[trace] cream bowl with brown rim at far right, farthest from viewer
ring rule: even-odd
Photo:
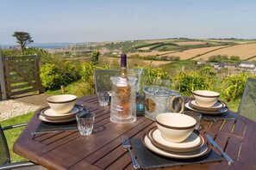
[[[196,90],[193,92],[193,95],[197,104],[203,107],[214,106],[220,97],[219,93],[208,90]]]

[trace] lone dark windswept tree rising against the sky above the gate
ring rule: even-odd
[[[16,43],[18,43],[21,46],[22,52],[24,51],[26,46],[28,46],[28,44],[34,42],[34,40],[32,40],[32,37],[30,36],[30,33],[16,31],[13,33],[12,36],[16,37]]]

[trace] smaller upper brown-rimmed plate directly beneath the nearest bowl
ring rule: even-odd
[[[148,134],[148,133],[147,133]],[[149,132],[147,137],[151,140],[153,144],[157,144],[158,147],[162,149],[167,149],[173,152],[187,152],[190,150],[198,149],[199,146],[204,142],[204,139],[201,135],[198,136],[194,131],[191,133],[190,137],[188,137],[182,143],[172,143],[167,141],[165,137],[161,135],[161,132],[157,127],[155,127],[152,131]]]

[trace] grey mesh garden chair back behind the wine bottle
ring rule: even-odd
[[[136,76],[136,92],[140,91],[141,76],[143,74],[143,69],[128,70],[128,76]],[[119,76],[120,70],[94,70],[94,80],[95,80],[95,90],[96,93],[100,91],[110,91],[112,87],[112,82],[110,80],[111,76]]]

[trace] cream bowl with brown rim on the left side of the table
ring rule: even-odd
[[[55,113],[65,114],[70,112],[75,106],[77,100],[76,95],[60,94],[47,98],[47,103]]]

